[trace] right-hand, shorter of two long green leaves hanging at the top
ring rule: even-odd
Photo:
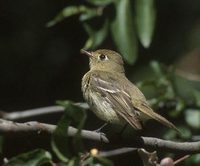
[[[154,0],[136,0],[136,25],[140,42],[148,48],[155,28],[156,11]]]

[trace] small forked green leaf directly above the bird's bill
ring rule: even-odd
[[[99,45],[101,45],[108,34],[108,26],[108,20],[105,20],[103,26],[99,30],[95,30],[88,23],[84,23],[84,28],[89,35],[84,49],[96,49]]]

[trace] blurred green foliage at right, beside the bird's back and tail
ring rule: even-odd
[[[153,79],[142,81],[138,85],[141,89],[145,86],[153,89],[154,95],[149,99],[149,103],[155,110],[165,111],[171,118],[178,120],[176,127],[181,135],[173,130],[167,130],[163,135],[167,140],[188,140],[192,137],[192,132],[200,129],[200,109],[199,91],[194,90],[194,98],[187,100],[177,92],[176,75],[174,70],[163,66],[157,61],[152,61],[150,66],[153,70]],[[144,91],[145,92],[145,91]],[[192,92],[192,91],[191,91]],[[191,103],[193,103],[191,105]],[[193,108],[193,106],[197,108]],[[183,118],[184,117],[184,118]],[[185,124],[185,125],[183,125]]]

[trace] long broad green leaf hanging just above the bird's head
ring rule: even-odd
[[[130,0],[115,1],[116,16],[111,24],[113,40],[124,59],[133,64],[137,59],[137,39]]]

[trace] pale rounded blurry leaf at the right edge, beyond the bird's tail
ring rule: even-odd
[[[200,110],[185,110],[185,120],[190,127],[200,129]]]

